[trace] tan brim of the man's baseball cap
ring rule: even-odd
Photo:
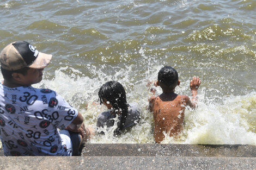
[[[36,69],[45,68],[48,64],[50,64],[51,59],[52,59],[51,54],[45,54],[45,53],[39,52],[33,64],[27,67],[36,68]]]

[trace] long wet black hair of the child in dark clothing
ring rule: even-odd
[[[119,135],[124,127],[129,106],[126,101],[124,87],[118,81],[108,81],[100,87],[98,95],[100,104],[103,103],[105,98],[113,106],[115,112],[121,112],[121,121],[118,122],[117,129],[114,130],[114,136]]]

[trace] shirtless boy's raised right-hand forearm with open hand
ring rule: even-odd
[[[198,87],[200,86],[200,83],[201,83],[201,80],[199,79],[199,77],[196,77],[196,76],[194,76],[192,78],[192,80],[190,81],[190,89],[192,92],[192,101],[189,100],[187,104],[191,108],[196,108],[196,106],[197,106],[197,90],[198,90]]]

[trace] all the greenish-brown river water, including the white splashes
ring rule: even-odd
[[[154,143],[146,84],[169,65],[179,73],[177,93],[191,97],[194,75],[202,83],[184,132],[162,143],[256,144],[255,0],[1,0],[0,15],[0,49],[26,40],[53,54],[34,87],[56,90],[86,125],[95,128],[106,110],[92,104],[106,81],[119,81],[138,103],[138,125],[91,143]]]

